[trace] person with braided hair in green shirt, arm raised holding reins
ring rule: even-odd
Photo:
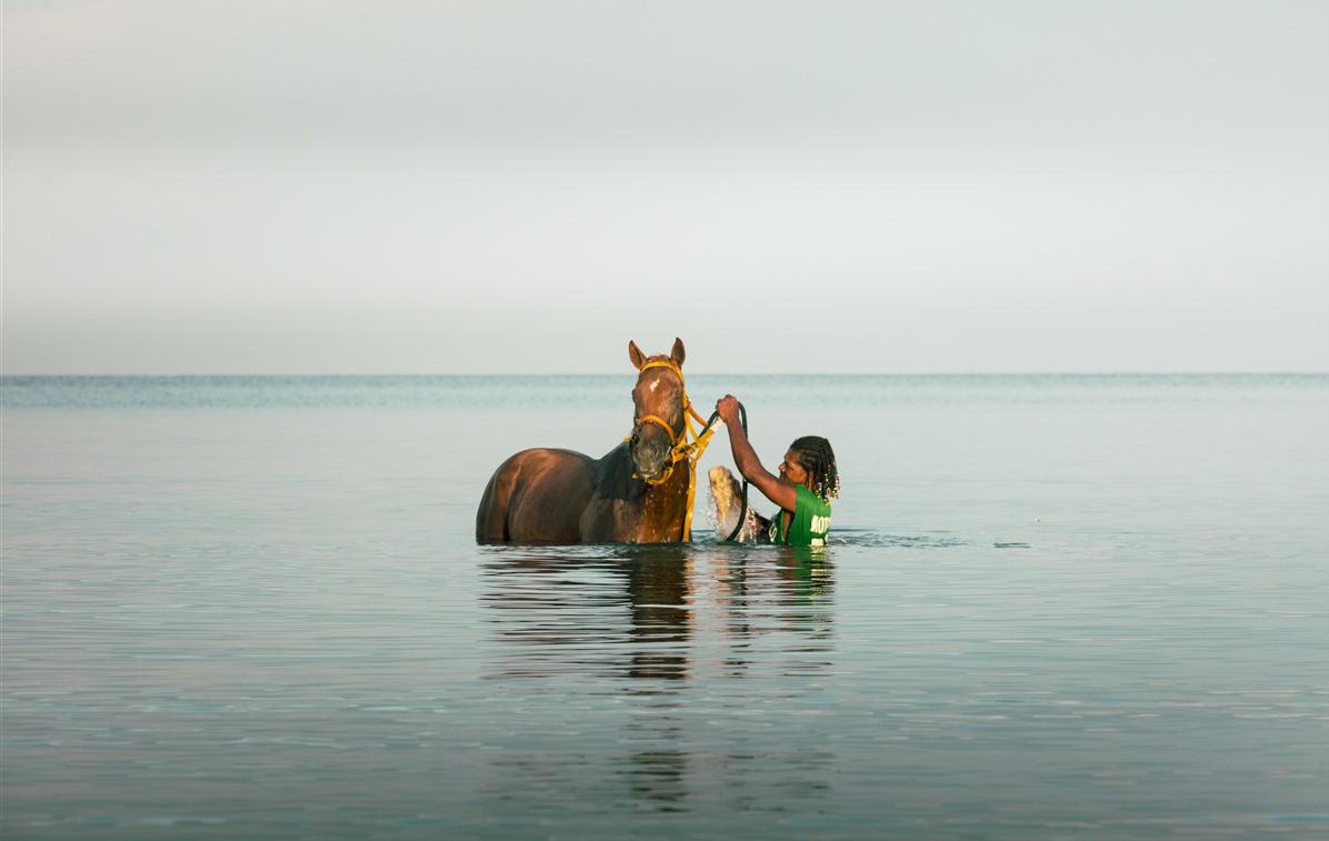
[[[762,466],[739,420],[739,401],[724,395],[715,411],[730,430],[734,464],[748,482],[780,506],[771,518],[769,538],[781,546],[825,546],[831,530],[831,500],[840,496],[840,473],[831,442],[817,436],[797,438],[784,453],[780,476]]]

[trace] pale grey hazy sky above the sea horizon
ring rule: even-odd
[[[1329,4],[7,0],[4,373],[1329,371]]]

